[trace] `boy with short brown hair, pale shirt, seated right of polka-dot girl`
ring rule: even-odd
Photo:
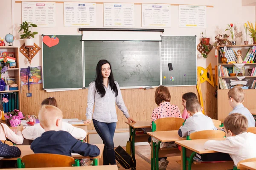
[[[217,129],[214,126],[212,119],[202,113],[203,108],[197,99],[189,99],[186,101],[186,109],[191,117],[186,119],[185,124],[178,130],[178,135],[180,137],[185,137],[193,132],[201,130]]]

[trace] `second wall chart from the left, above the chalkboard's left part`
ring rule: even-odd
[[[96,3],[64,3],[65,27],[96,27]]]

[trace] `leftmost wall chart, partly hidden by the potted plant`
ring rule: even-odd
[[[30,22],[38,27],[55,27],[55,3],[22,2],[22,22]]]

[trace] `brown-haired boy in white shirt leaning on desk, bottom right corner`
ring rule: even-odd
[[[256,135],[246,132],[248,121],[240,113],[233,113],[224,120],[224,130],[227,139],[224,141],[209,140],[204,147],[208,150],[229,153],[234,164],[239,161],[256,157]]]

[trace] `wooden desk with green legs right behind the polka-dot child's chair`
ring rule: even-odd
[[[159,142],[157,143],[157,147],[156,148],[152,147],[153,164],[151,162],[151,170],[158,169],[158,158],[159,158],[158,152],[160,149],[161,142],[175,142],[179,140],[186,140],[185,137],[182,138],[178,135],[178,130],[147,132],[147,134],[159,140]],[[172,156],[171,154],[180,152],[177,148],[161,148],[161,150],[163,150],[163,156],[160,156],[160,157],[169,157],[169,156]]]

